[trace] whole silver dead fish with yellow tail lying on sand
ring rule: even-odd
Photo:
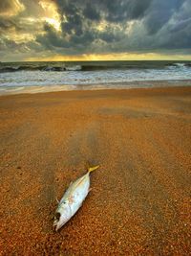
[[[83,200],[88,196],[90,191],[90,173],[95,171],[98,167],[99,166],[88,168],[87,174],[77,178],[71,183],[64,196],[58,202],[53,221],[55,231],[69,221],[81,207]]]

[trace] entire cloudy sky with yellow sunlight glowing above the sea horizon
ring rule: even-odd
[[[191,0],[0,0],[0,61],[191,60]]]

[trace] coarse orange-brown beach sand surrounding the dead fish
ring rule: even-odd
[[[189,255],[191,87],[0,97],[0,255]],[[100,164],[58,233],[56,198]]]

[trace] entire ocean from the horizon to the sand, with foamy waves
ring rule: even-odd
[[[154,81],[154,82],[152,82]],[[0,95],[191,84],[191,61],[0,62]],[[184,84],[184,83],[182,83]]]

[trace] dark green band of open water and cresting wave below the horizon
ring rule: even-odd
[[[100,71],[100,70],[134,70],[134,69],[166,69],[189,68],[191,62],[172,61],[87,61],[87,62],[0,62],[0,73],[18,71]]]

